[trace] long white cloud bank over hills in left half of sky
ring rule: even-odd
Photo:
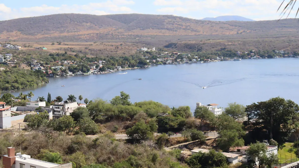
[[[20,17],[42,16],[58,13],[82,13],[94,15],[106,15],[110,13],[129,13],[132,9],[125,5],[132,5],[132,0],[107,0],[99,3],[84,5],[60,5],[58,7],[42,4],[40,6],[21,7],[11,10],[4,4],[0,4],[0,20],[15,19]],[[13,11],[13,12],[12,12]]]

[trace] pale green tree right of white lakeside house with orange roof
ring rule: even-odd
[[[225,108],[225,113],[233,117],[235,120],[246,116],[245,106],[237,104],[236,102],[228,103],[228,107]]]

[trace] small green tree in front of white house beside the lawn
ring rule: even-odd
[[[251,143],[248,150],[247,155],[250,156],[252,159],[257,159],[259,162],[259,168],[263,166],[266,162],[266,152],[267,146],[265,143]]]

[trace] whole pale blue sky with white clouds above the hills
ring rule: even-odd
[[[238,15],[254,20],[280,19],[283,0],[13,0],[0,1],[0,20],[58,13],[94,15],[143,13],[192,19]],[[286,0],[288,1],[288,0]],[[299,5],[299,3],[297,4]],[[296,6],[298,8],[298,6]],[[296,9],[297,10],[297,9]],[[295,17],[292,11],[289,18]]]

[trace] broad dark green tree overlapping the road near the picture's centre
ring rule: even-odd
[[[152,136],[153,132],[157,130],[157,124],[152,123],[152,126],[149,126],[144,121],[139,121],[135,126],[126,130],[126,134],[129,138],[144,140]]]

